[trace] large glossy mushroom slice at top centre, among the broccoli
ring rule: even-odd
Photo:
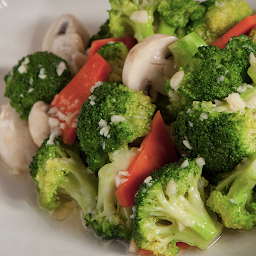
[[[123,83],[135,91],[146,91],[150,86],[152,101],[163,89],[168,78],[177,72],[168,46],[177,37],[154,34],[136,44],[129,52],[123,68]]]

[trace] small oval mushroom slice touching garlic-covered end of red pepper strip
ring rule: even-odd
[[[49,137],[51,130],[49,125],[50,116],[47,112],[50,105],[43,102],[36,102],[28,116],[28,127],[34,143],[40,147],[44,140]]]

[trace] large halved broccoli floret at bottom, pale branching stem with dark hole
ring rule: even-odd
[[[154,171],[135,198],[133,237],[154,255],[173,256],[177,242],[204,250],[223,225],[210,216],[199,192],[202,158],[183,158]]]

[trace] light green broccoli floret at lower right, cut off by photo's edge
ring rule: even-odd
[[[256,224],[256,153],[239,163],[211,192],[207,205],[227,228],[251,229]]]

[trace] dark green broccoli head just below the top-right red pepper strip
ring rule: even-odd
[[[222,99],[243,82],[239,66],[217,46],[200,47],[193,57],[193,67],[185,66],[181,70],[185,76],[178,90],[191,100]]]

